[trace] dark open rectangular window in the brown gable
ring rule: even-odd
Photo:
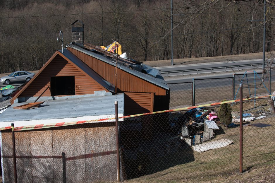
[[[51,77],[51,96],[75,95],[75,76]]]

